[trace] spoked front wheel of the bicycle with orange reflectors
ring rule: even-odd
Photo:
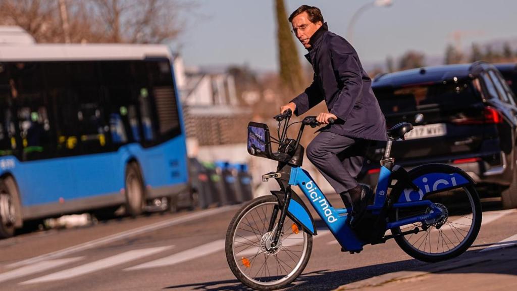
[[[273,213],[278,211],[276,217]],[[251,200],[233,217],[226,232],[226,260],[235,277],[248,287],[274,290],[293,282],[305,269],[312,250],[312,235],[288,216],[276,247],[271,247],[270,221],[278,224],[275,196]]]

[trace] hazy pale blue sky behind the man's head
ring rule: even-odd
[[[329,30],[346,37],[353,14],[370,0],[284,0],[287,13],[302,4],[322,10]],[[352,45],[364,64],[380,62],[417,50],[439,56],[453,31],[465,32],[462,47],[472,42],[517,39],[517,1],[393,0],[391,7],[374,7],[354,26]],[[197,0],[187,18],[187,30],[175,47],[187,66],[248,64],[276,70],[276,22],[273,0]],[[300,53],[306,53],[300,43]],[[513,47],[517,51],[517,46]]]

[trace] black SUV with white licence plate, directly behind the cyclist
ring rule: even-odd
[[[372,89],[388,128],[414,129],[394,142],[396,163],[411,169],[445,163],[466,171],[485,201],[517,207],[517,107],[515,96],[491,64],[425,67],[374,78]],[[384,144],[368,151],[363,182],[375,184]]]

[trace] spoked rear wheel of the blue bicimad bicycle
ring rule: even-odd
[[[400,248],[408,255],[428,262],[442,261],[464,253],[476,239],[481,227],[481,202],[474,186],[465,185],[432,193],[425,195],[422,200],[430,200],[445,215],[434,221],[392,228],[394,235],[415,228],[419,230],[417,233],[396,237]],[[430,211],[428,207],[393,209],[390,220],[400,221]]]

